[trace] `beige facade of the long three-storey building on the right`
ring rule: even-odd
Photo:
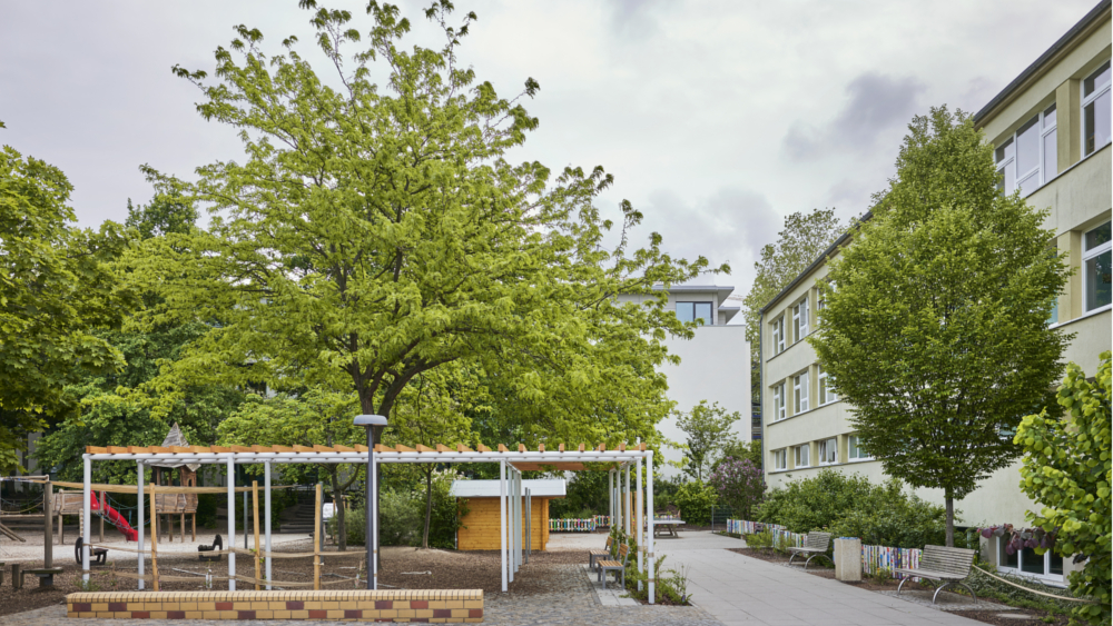
[[[995,147],[1006,190],[1020,188],[1030,205],[1051,210],[1045,227],[1057,235],[1050,245],[1066,254],[1075,272],[1051,324],[1076,334],[1063,360],[1087,372],[1096,369],[1099,355],[1111,349],[1113,324],[1110,28],[1110,3],[1103,2],[975,116]],[[817,260],[764,311],[761,403],[770,488],[824,467],[885,479],[880,463],[858,458],[850,407],[825,389],[815,350],[804,341],[818,324],[816,284],[826,274],[827,266]],[[1025,525],[1025,513],[1037,506],[1020,490],[1018,467],[997,471],[956,503],[961,524]],[[917,495],[943,503],[942,490],[918,489]],[[985,552],[997,560],[996,544]],[[1040,556],[1036,563],[1036,555],[1027,553],[1021,560],[1006,560],[1002,553],[999,566],[1053,584],[1071,569],[1070,559],[1053,563],[1051,556]]]

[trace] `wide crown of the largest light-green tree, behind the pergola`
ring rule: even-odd
[[[177,69],[200,88],[206,119],[242,130],[246,155],[198,168],[188,185],[148,169],[213,216],[207,230],[150,239],[134,258],[162,298],[148,324],[211,322],[148,393],[169,403],[186,382],[322,386],[390,416],[415,377],[466,361],[540,415],[533,436],[651,436],[668,410],[654,371],[664,334],[691,329],[663,296],[615,296],[654,294],[708,262],[669,257],[656,233],[631,249],[641,215],[623,202],[621,223],[600,217],[594,200],[611,185],[601,168],[554,177],[508,162],[538,126],[519,101],[538,85],[508,100],[461,67],[474,14],[451,26],[451,4],[434,4],[426,16],[445,43],[407,50],[411,24],[395,7],[372,2],[362,33],[347,11],[302,4],[331,76],[295,38],[267,54],[246,27],[217,50],[214,82]]]

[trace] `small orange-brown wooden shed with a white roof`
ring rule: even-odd
[[[564,479],[522,480],[522,490],[530,490],[532,509],[531,549],[543,550],[549,544],[549,500],[567,494]],[[499,540],[499,481],[455,480],[450,495],[467,505],[463,527],[456,530],[456,548],[461,550],[498,550]],[[525,537],[525,511],[522,511],[522,538]],[[523,541],[524,544],[524,541]]]

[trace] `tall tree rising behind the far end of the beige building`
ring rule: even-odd
[[[742,298],[746,339],[750,342],[750,389],[761,397],[760,318],[761,307],[769,304],[846,232],[846,226],[835,217],[835,209],[815,209],[810,213],[795,212],[785,218],[785,228],[777,241],[761,248],[761,260],[754,264],[757,276]]]

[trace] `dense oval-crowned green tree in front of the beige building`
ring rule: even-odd
[[[1024,415],[1046,406],[1067,337],[1047,327],[1067,271],[1046,210],[998,190],[969,116],[916,117],[874,218],[830,261],[809,338],[886,474],[954,500],[1007,467]]]

